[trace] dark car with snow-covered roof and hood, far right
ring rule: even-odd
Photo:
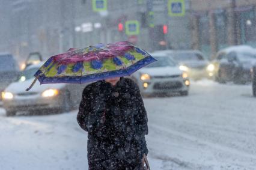
[[[232,46],[217,53],[213,61],[218,82],[244,84],[251,81],[250,69],[256,62],[256,50],[249,46]]]

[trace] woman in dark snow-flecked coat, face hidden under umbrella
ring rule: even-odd
[[[88,132],[89,169],[142,169],[147,121],[133,80],[115,77],[85,87],[78,124]]]

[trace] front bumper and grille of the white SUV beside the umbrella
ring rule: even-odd
[[[176,78],[153,78],[151,80],[139,81],[138,85],[142,95],[149,94],[173,94],[181,91],[188,91],[189,85],[185,85],[182,77]],[[144,86],[147,83],[147,87]]]

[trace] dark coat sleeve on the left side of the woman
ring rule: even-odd
[[[97,84],[85,87],[77,117],[79,126],[89,133],[97,132],[104,123],[104,109],[105,100],[99,96]]]

